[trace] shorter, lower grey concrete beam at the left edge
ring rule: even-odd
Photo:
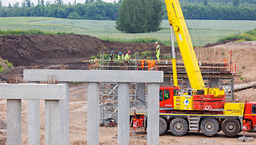
[[[47,99],[59,100],[66,97],[66,87],[62,84],[0,84],[0,99]]]

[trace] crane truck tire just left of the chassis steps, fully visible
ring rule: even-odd
[[[187,121],[183,118],[175,118],[170,123],[171,133],[175,136],[183,136],[187,133]]]

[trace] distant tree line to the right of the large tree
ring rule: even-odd
[[[256,5],[241,5],[236,7],[233,3],[186,3],[182,5],[182,12],[187,19],[210,20],[256,20]],[[167,19],[167,14],[163,16]]]

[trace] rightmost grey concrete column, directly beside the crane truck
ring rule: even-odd
[[[147,83],[147,144],[159,144],[159,83]]]

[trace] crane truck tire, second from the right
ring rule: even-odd
[[[203,119],[200,124],[201,131],[207,137],[214,136],[219,129],[218,121],[214,118]]]

